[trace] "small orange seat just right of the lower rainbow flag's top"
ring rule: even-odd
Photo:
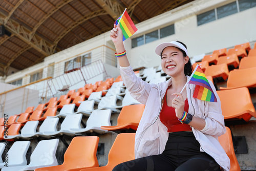
[[[221,77],[226,80],[228,78],[229,71],[226,63],[223,63],[221,65],[211,65],[207,67],[204,74],[206,76],[212,76],[212,78]]]

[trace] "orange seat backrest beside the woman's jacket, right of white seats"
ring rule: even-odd
[[[117,118],[117,125],[123,125],[127,123],[139,123],[144,112],[144,108],[144,104],[123,106]]]

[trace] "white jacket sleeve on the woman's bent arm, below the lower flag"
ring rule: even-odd
[[[211,136],[221,136],[225,134],[226,128],[224,123],[224,116],[222,115],[221,111],[221,101],[216,92],[214,84],[209,81],[212,90],[217,98],[217,102],[208,102],[205,101],[205,111],[204,111],[204,120],[205,126],[202,133],[208,134]]]

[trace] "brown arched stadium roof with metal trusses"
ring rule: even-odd
[[[1,0],[0,75],[111,30],[124,8],[137,24],[191,1]]]

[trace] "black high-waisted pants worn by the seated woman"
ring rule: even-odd
[[[220,166],[204,152],[192,132],[169,133],[160,155],[143,157],[115,166],[113,171],[219,171]]]

